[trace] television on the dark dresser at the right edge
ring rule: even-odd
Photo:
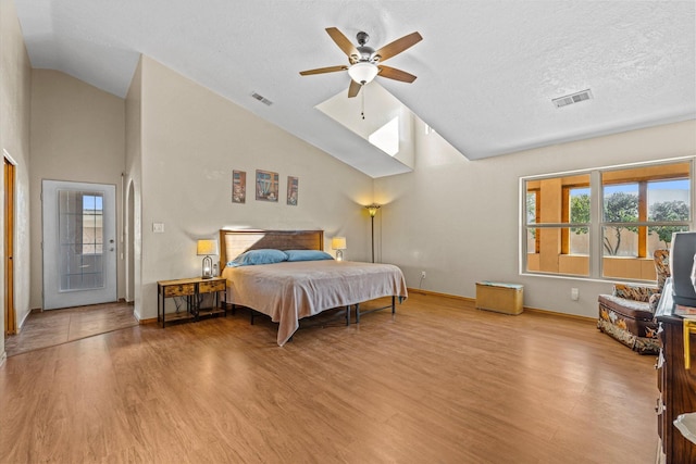
[[[696,290],[692,281],[696,233],[672,234],[670,272],[672,273],[672,297],[675,304],[696,306]]]

